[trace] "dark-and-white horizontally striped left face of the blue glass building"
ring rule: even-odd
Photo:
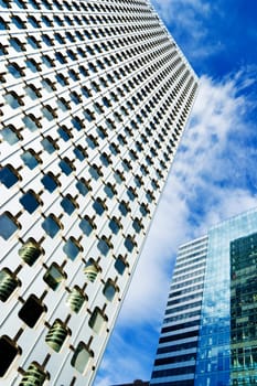
[[[151,385],[194,384],[206,256],[207,237],[179,248]]]

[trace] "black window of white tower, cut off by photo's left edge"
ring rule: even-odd
[[[19,354],[21,354],[21,347],[8,335],[2,335],[0,337],[0,377],[6,375]]]

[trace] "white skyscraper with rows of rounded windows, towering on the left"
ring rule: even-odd
[[[0,1],[1,385],[89,385],[197,81],[149,1]]]

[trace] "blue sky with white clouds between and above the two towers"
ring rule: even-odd
[[[257,206],[257,1],[151,2],[200,90],[94,386],[150,379],[178,246]]]

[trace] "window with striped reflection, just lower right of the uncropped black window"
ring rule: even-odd
[[[56,319],[45,336],[45,342],[51,349],[58,353],[67,336],[67,326],[60,319]]]

